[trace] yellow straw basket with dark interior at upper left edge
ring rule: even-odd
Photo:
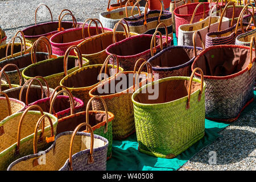
[[[31,51],[31,47],[32,47],[32,44],[26,42],[26,53]],[[6,60],[6,48],[7,48],[7,44],[3,44],[2,46],[0,46],[0,62],[3,60]],[[11,47],[9,47],[8,51],[9,51],[9,55],[7,56],[7,59],[10,59]],[[20,43],[14,43],[13,57],[20,56],[20,51],[21,51]],[[22,54],[24,53],[25,52],[22,51]]]

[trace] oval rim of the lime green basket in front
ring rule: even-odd
[[[141,90],[143,89],[146,89],[148,86],[151,86],[151,85],[154,85],[156,83],[161,83],[161,82],[164,82],[164,81],[169,81],[169,80],[187,80],[189,81],[190,77],[187,77],[187,76],[171,76],[171,77],[166,77],[166,78],[161,78],[159,80],[156,80],[154,82],[150,82],[149,84],[146,84],[146,85],[143,85],[141,88],[135,90],[135,92],[133,93],[133,95],[131,96],[131,101],[133,101],[133,104],[136,105],[136,106],[140,106],[140,107],[144,107],[144,108],[150,108],[150,107],[163,107],[165,105],[175,105],[177,102],[186,102],[187,99],[188,99],[188,96],[184,96],[184,97],[181,97],[181,98],[178,98],[174,101],[169,101],[169,102],[164,102],[164,103],[158,103],[158,104],[142,104],[141,102],[137,102],[134,100],[134,98],[139,94],[139,92],[141,92]],[[195,78],[193,77],[193,81],[195,82],[198,82],[201,84],[201,80],[199,78]],[[204,94],[204,90],[205,90],[205,82],[204,82],[204,85],[203,85],[203,93]],[[200,88],[197,89],[195,92],[191,93],[191,98],[193,97],[193,95],[197,94],[200,92]],[[184,106],[185,107],[185,106]]]

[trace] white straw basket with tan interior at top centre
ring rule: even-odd
[[[128,17],[132,16],[131,9],[131,6],[127,7]],[[139,7],[139,9],[143,12],[145,11],[145,7]],[[133,14],[135,17],[139,15],[138,7],[134,7]],[[113,29],[115,24],[119,22],[120,19],[126,18],[125,7],[115,9],[112,11],[104,11],[99,14],[99,17],[104,27]],[[117,31],[123,31],[123,28],[121,26],[118,26]]]

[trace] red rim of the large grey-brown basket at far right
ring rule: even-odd
[[[214,49],[214,48],[243,48],[243,49],[249,49],[250,50],[250,47],[240,46],[240,45],[217,45],[217,46],[210,46],[210,47],[204,49],[202,52],[199,53],[199,55],[196,56],[196,59],[193,61],[192,65],[191,65],[191,70],[193,71],[194,65],[195,65],[196,61],[199,59],[199,57],[203,56],[205,52],[208,52],[210,49]],[[254,48],[253,48],[253,51],[254,51]],[[254,63],[254,62],[255,62],[255,57],[252,60],[252,63]],[[246,71],[248,71],[248,67],[242,69],[241,71],[239,71],[237,73],[233,73],[232,75],[227,75],[227,76],[209,76],[209,75],[204,75],[204,78],[212,79],[212,80],[227,80],[227,79],[230,79],[230,78],[234,78],[234,77],[240,76],[240,75],[242,75],[242,73],[244,73]],[[196,73],[196,72],[195,72],[195,75],[196,76],[200,76],[199,73]]]

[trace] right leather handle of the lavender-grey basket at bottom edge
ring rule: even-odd
[[[76,133],[77,131],[79,131],[79,129],[82,126],[88,126],[89,130],[90,130],[90,154],[89,154],[89,158],[88,158],[88,164],[92,164],[94,163],[94,159],[93,159],[93,144],[94,144],[94,135],[93,135],[93,129],[92,127],[88,124],[88,123],[81,123],[80,125],[78,125],[75,129],[75,131],[72,134],[71,137],[71,142],[70,142],[70,147],[69,147],[69,169],[70,171],[73,171],[72,168],[72,148],[73,148],[73,141],[76,137]]]

